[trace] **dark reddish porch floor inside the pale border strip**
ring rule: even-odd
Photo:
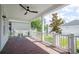
[[[10,38],[3,48],[2,54],[48,54],[45,50],[25,37]]]

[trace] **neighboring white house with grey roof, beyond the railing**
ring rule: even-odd
[[[73,20],[62,26],[62,34],[79,35],[79,20]]]

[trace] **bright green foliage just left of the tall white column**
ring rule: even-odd
[[[31,22],[31,28],[36,29],[37,31],[42,30],[42,22],[41,22],[40,18],[37,18]]]

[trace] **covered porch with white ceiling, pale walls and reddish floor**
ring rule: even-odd
[[[28,12],[26,15],[19,4],[0,5],[0,51],[1,53],[21,54],[60,54],[68,53],[65,50],[51,47],[44,40],[44,16],[67,5],[65,4],[23,4],[38,13]],[[41,18],[42,31],[34,32],[31,29],[31,21]],[[11,31],[10,31],[11,30]],[[28,35],[30,33],[30,36]],[[40,34],[40,37],[37,36]],[[73,38],[73,37],[72,37]],[[72,39],[71,38],[71,39]],[[58,41],[54,41],[58,44]],[[53,44],[53,42],[52,42]],[[70,46],[71,47],[71,46]],[[71,47],[72,48],[72,47]]]

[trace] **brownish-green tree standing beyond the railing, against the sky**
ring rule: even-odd
[[[64,23],[64,21],[62,18],[58,17],[57,13],[52,14],[52,16],[53,18],[51,24],[49,25],[52,28],[51,32],[61,34],[62,33],[61,25]]]

